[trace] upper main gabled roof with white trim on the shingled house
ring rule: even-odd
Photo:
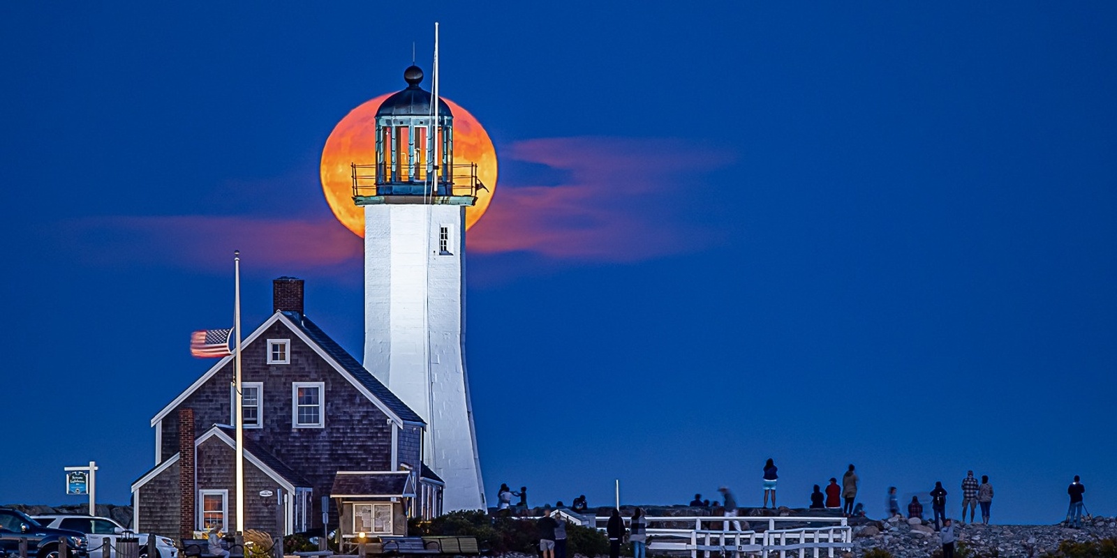
[[[350,381],[359,391],[363,392],[370,401],[373,402],[384,414],[394,419],[398,422],[410,422],[417,424],[426,425],[426,422],[414,412],[411,407],[407,406],[399,397],[395,396],[391,391],[388,389],[384,384],[381,384],[375,376],[372,375],[367,369],[365,369],[361,364],[353,358],[352,355],[345,352],[337,345],[336,341],[330,338],[317,325],[311,321],[304,315],[293,311],[277,311],[271,315],[270,318],[264,321],[255,331],[251,333],[245,340],[244,345],[248,345],[256,340],[268,327],[270,327],[276,321],[283,321],[288,328],[296,335],[298,335],[304,343],[311,346],[319,356],[326,359],[327,363],[332,364],[334,368],[343,377]],[[217,364],[214,364],[210,369],[203,374],[200,378],[195,379],[193,384],[190,384],[185,391],[179,394],[171,403],[162,408],[155,416],[151,420],[151,425],[154,426],[159,421],[162,421],[171,411],[178,407],[190,394],[194,393],[199,387],[206,384],[214,374],[217,374],[221,368],[223,368],[229,362],[232,360],[232,355],[221,358]]]

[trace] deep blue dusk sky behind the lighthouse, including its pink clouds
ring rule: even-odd
[[[233,249],[246,327],[293,275],[361,354],[317,161],[438,20],[500,156],[469,240],[490,498],[756,504],[771,456],[785,504],[856,463],[873,516],[967,469],[995,521],[1062,519],[1073,474],[1117,513],[1117,7],[971,3],[3,4],[0,503],[80,502],[89,460],[127,502]]]

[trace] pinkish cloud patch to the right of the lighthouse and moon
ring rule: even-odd
[[[529,140],[508,151],[514,160],[562,171],[569,180],[553,186],[502,184],[469,231],[474,253],[629,262],[700,250],[720,238],[687,206],[712,192],[703,175],[729,164],[728,152],[681,140],[624,137]]]

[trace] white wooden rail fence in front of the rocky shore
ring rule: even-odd
[[[567,521],[595,529],[600,529],[599,526],[604,526],[609,521],[608,517],[593,518],[566,510],[558,510],[556,513]],[[627,523],[629,518],[624,519]],[[648,550],[689,551],[690,558],[698,558],[698,552],[703,554],[703,558],[710,558],[713,554],[732,558],[743,556],[819,558],[833,557],[834,550],[848,550],[853,547],[852,529],[843,517],[651,516],[647,517],[647,520]],[[767,523],[767,529],[762,531],[726,529],[733,521],[748,521],[750,527]],[[678,527],[680,523],[693,523],[694,527],[690,525],[686,528]],[[802,523],[808,523],[810,527],[801,527]],[[672,527],[667,527],[668,525]],[[785,527],[781,528],[781,525]],[[795,527],[796,525],[800,527]]]

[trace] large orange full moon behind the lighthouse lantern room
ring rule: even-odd
[[[322,148],[322,191],[326,202],[346,229],[364,237],[364,210],[353,203],[351,163],[376,162],[376,109],[391,93],[354,108],[334,126]],[[496,148],[488,133],[469,110],[442,97],[454,112],[454,163],[477,163],[477,177],[488,190],[477,192],[477,203],[466,208],[466,229],[485,214],[496,192]]]

